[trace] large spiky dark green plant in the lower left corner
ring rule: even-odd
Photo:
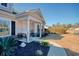
[[[12,37],[0,38],[0,55],[9,56],[12,55],[16,49],[17,41]]]

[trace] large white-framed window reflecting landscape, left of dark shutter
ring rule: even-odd
[[[10,35],[10,21],[0,18],[0,37]]]

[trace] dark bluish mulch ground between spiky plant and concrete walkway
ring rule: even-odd
[[[14,52],[14,56],[36,56],[35,52],[39,49],[43,51],[43,56],[47,56],[49,48],[49,46],[41,46],[39,42],[33,41],[31,43],[27,43],[25,47],[20,47],[18,45]]]

